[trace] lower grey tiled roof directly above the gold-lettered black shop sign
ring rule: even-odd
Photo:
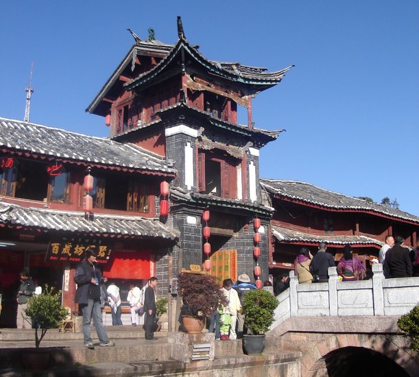
[[[101,214],[94,214],[93,219],[86,219],[84,212],[26,208],[5,202],[0,202],[1,225],[168,241],[177,238],[175,232],[165,228],[157,219]]]

